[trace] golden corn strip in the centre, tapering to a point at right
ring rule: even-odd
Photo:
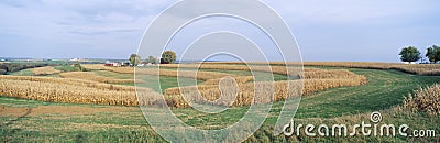
[[[287,98],[292,98],[298,95],[309,95],[315,91],[324,90],[329,88],[344,87],[344,86],[361,86],[367,82],[365,76],[355,75],[349,70],[334,69],[334,70],[310,70],[304,73],[305,78],[301,80],[284,80],[284,81],[261,81],[261,82],[239,82],[238,86],[210,84],[210,85],[198,85],[189,87],[176,87],[168,88],[165,90],[165,95],[173,100],[168,103],[174,107],[189,107],[183,96],[194,100],[195,102],[212,103],[212,101],[220,98],[220,95],[237,95],[234,102],[229,102],[231,99],[222,99],[218,101],[221,106],[250,106],[254,103],[267,103],[271,101],[279,101]],[[216,79],[220,81],[221,79]],[[235,79],[237,80],[237,79]],[[229,88],[229,90],[222,90]],[[255,88],[256,87],[256,88]],[[238,89],[232,89],[238,88]],[[257,91],[256,91],[256,90]],[[265,89],[265,90],[262,90]],[[272,91],[274,90],[274,91]],[[191,96],[198,95],[201,97],[191,98]],[[189,94],[189,95],[188,95]],[[255,99],[255,95],[266,95],[266,98]],[[175,96],[179,95],[179,96]],[[273,96],[273,97],[272,97]],[[232,96],[233,97],[233,96]]]

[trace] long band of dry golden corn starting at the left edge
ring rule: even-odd
[[[40,101],[139,106],[135,87],[92,82],[89,80],[0,76],[0,95]],[[84,81],[84,82],[81,82]],[[148,97],[142,103],[151,105],[157,92],[140,88],[140,95]]]

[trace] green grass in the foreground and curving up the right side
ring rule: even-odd
[[[348,69],[367,76],[369,84],[302,96],[295,121],[298,123],[359,123],[370,121],[371,112],[381,111],[384,122],[407,122],[414,129],[433,129],[440,132],[438,116],[430,117],[422,112],[411,113],[397,109],[405,96],[415,89],[440,82],[440,77],[415,76],[397,70]],[[131,78],[130,75],[96,73]],[[223,70],[223,73],[245,75],[245,72],[237,70]],[[284,77],[277,78],[283,79]],[[175,78],[165,79],[164,84],[166,88],[173,87],[176,84]],[[428,139],[274,136],[272,127],[276,122],[282,103],[273,105],[266,122],[250,136],[248,142],[439,142],[439,136]],[[21,110],[32,108],[31,113],[22,118],[0,118],[0,142],[165,142],[148,127],[139,107],[53,103],[6,97],[0,97],[0,105]],[[66,108],[70,112],[57,112],[56,109],[59,107]],[[52,108],[54,112],[44,111]],[[235,107],[222,113],[208,114],[194,109],[173,109],[174,113],[184,122],[198,128],[230,125],[240,120],[246,110],[246,107]]]

